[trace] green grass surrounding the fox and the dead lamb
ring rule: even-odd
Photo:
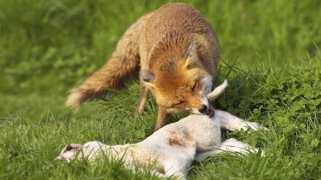
[[[320,179],[321,2],[186,2],[206,17],[221,44],[219,82],[228,78],[230,86],[215,107],[270,128],[223,138],[275,155],[220,155],[194,164],[189,178]],[[53,159],[71,142],[134,143],[152,133],[156,104],[149,97],[135,118],[135,81],[77,113],[64,103],[136,18],[166,3],[0,0],[0,179],[150,178],[147,169],[132,174],[121,162]]]

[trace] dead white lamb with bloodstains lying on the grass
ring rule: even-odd
[[[227,87],[227,81],[208,94],[209,101],[214,100]],[[70,162],[74,158],[88,158],[93,161],[107,155],[116,160],[123,160],[128,168],[134,164],[147,166],[154,164],[153,172],[159,176],[176,176],[185,178],[187,169],[193,160],[202,161],[208,156],[215,156],[225,151],[258,152],[258,148],[234,138],[221,142],[221,128],[229,131],[235,129],[258,130],[261,126],[255,122],[244,121],[228,112],[215,110],[214,115],[189,115],[178,122],[169,124],[151,134],[141,142],[124,145],[105,145],[98,141],[84,145],[66,146],[58,160]],[[268,130],[266,127],[262,127]],[[264,151],[262,150],[262,156]]]

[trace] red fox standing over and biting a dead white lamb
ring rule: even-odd
[[[213,115],[206,95],[217,77],[220,46],[210,24],[193,7],[171,3],[136,20],[109,60],[70,91],[67,106],[104,97],[103,87],[119,89],[140,68],[140,114],[148,90],[158,105],[155,131],[171,112]],[[137,73],[138,74],[138,73]]]

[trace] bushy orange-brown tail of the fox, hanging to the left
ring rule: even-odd
[[[66,105],[77,110],[82,102],[106,95],[103,88],[119,89],[139,67],[139,31],[144,16],[134,22],[118,41],[115,51],[107,62],[87,77],[77,88],[70,90]],[[138,73],[137,73],[138,75]]]

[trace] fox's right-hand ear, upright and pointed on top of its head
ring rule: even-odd
[[[187,69],[192,69],[200,66],[199,57],[197,55],[197,45],[194,41],[184,53],[184,57],[187,57],[185,62],[185,67]]]

